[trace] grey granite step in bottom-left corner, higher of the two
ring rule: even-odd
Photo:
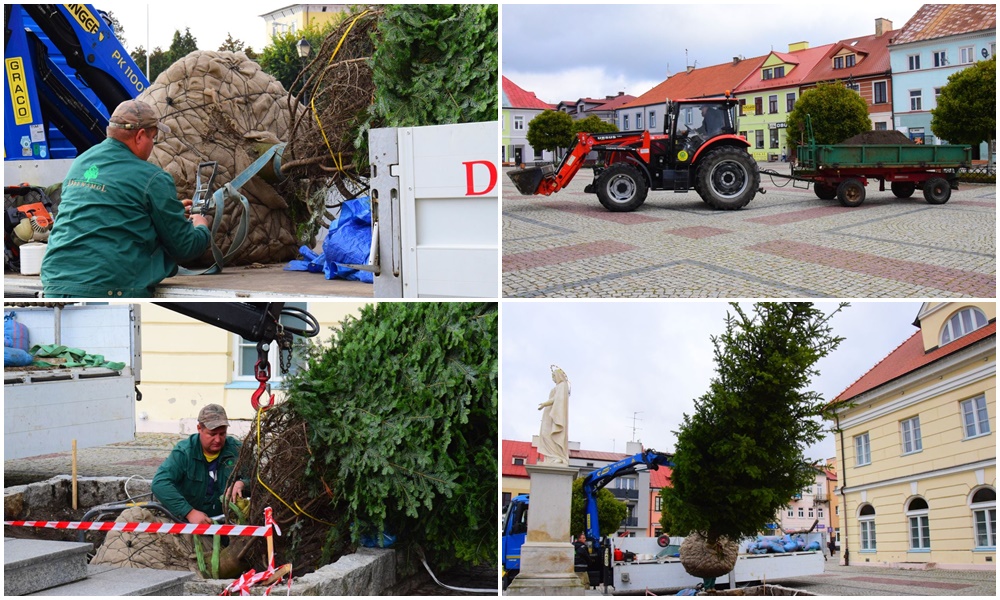
[[[24,596],[87,576],[93,544],[46,540],[3,540],[3,595]]]

